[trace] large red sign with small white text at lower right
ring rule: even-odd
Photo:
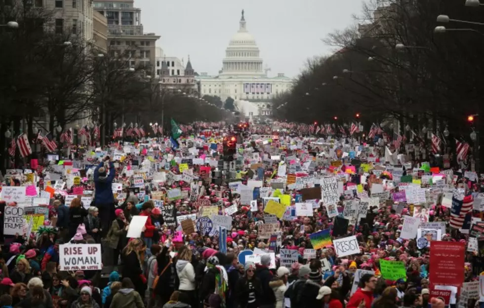
[[[464,282],[465,244],[460,242],[430,242],[430,275],[432,285],[460,288]]]

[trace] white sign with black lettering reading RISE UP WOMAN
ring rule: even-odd
[[[101,244],[59,245],[60,270],[100,270]]]

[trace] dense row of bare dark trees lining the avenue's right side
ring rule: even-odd
[[[484,27],[442,24],[437,16],[484,23],[482,7],[464,0],[380,2],[364,4],[359,20],[369,23],[324,39],[336,52],[308,60],[292,91],[274,100],[274,116],[306,123],[359,120],[366,129],[393,118],[401,132],[408,125],[442,133],[447,126],[450,137],[469,139],[467,116],[484,108]],[[434,33],[437,26],[459,30]],[[483,131],[484,121],[477,116],[475,122]]]

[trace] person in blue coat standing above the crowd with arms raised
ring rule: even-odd
[[[105,162],[109,161],[109,174]],[[94,204],[99,209],[99,221],[101,222],[101,238],[105,237],[111,222],[114,219],[114,195],[112,184],[116,170],[109,156],[104,158],[94,170]]]

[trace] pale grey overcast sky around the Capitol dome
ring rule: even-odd
[[[135,0],[144,32],[161,36],[167,56],[188,54],[199,74],[217,75],[231,37],[239,30],[242,9],[269,76],[297,76],[307,58],[334,47],[321,39],[355,21],[362,0]]]

